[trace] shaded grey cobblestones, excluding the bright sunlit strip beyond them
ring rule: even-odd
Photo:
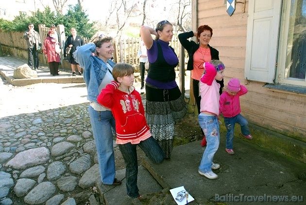
[[[13,200],[15,204],[55,205],[78,186],[95,185],[100,175],[87,106],[0,119],[2,205]],[[8,195],[14,195],[10,191],[18,198],[10,199]]]

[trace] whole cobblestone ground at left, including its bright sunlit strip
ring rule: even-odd
[[[85,84],[16,87],[1,76],[0,90],[0,204],[89,204],[100,175]]]

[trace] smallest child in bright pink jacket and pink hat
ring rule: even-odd
[[[248,121],[240,115],[239,97],[247,93],[248,90],[244,85],[240,85],[238,78],[232,78],[227,84],[225,91],[220,96],[220,113],[223,114],[224,123],[226,126],[226,148],[228,154],[235,154],[233,150],[234,129],[235,124],[241,126],[243,137],[252,139],[248,126]]]

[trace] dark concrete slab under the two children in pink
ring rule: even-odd
[[[163,188],[184,186],[196,204],[214,201],[216,196],[226,194],[306,197],[306,183],[298,179],[299,174],[306,171],[306,164],[239,138],[234,139],[236,154],[229,155],[225,152],[225,133],[221,134],[220,141],[214,157],[214,162],[221,165],[215,171],[219,176],[216,180],[198,173],[205,149],[201,141],[175,147],[171,160],[162,164],[153,164],[148,158],[142,164]]]

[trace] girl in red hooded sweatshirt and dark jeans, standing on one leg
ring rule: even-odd
[[[102,89],[97,101],[110,108],[116,120],[116,143],[125,162],[127,194],[132,198],[140,198],[137,187],[137,145],[153,163],[161,163],[165,155],[150,132],[140,94],[133,86],[133,74],[131,65],[116,64],[113,68],[115,81]]]

